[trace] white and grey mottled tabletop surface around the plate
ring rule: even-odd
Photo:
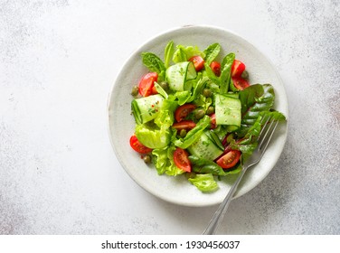
[[[221,234],[340,234],[338,1],[0,0],[0,234],[199,234],[216,207],[142,190],[109,143],[122,62],[165,30],[209,24],[264,52],[288,93],[288,142]]]

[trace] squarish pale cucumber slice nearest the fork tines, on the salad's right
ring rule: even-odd
[[[241,101],[237,98],[214,95],[216,125],[228,125],[232,130],[241,126]]]

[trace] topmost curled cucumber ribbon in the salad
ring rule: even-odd
[[[197,72],[194,69],[193,62],[183,61],[167,68],[165,75],[170,89],[183,91],[185,89],[185,82],[187,80],[194,80]]]

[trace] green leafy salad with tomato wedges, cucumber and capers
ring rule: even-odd
[[[241,172],[263,118],[286,120],[273,109],[273,87],[250,85],[245,64],[234,52],[220,55],[221,49],[217,42],[202,51],[171,41],[163,61],[142,52],[148,71],[131,91],[131,147],[159,175],[185,175],[202,192]]]

